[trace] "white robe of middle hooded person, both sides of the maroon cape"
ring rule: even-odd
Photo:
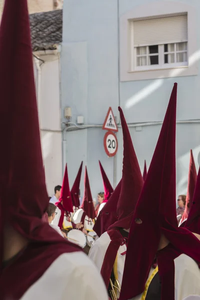
[[[103,259],[110,241],[111,239],[109,235],[107,234],[107,232],[104,232],[90,248],[88,257],[95,263],[99,271],[101,270]],[[121,253],[125,251],[126,251],[126,244],[119,246],[116,259],[113,265],[114,277],[115,279],[118,280],[120,285],[122,282],[123,268],[125,263],[125,254],[121,255]],[[117,294],[117,296],[119,295]]]

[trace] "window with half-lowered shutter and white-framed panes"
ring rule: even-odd
[[[131,21],[131,71],[188,65],[187,15]]]

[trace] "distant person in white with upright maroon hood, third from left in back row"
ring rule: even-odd
[[[78,209],[74,215],[73,220],[74,223],[81,222],[84,224],[84,229],[87,231],[93,231],[95,219],[95,210],[93,205],[93,199],[91,196],[91,190],[89,186],[89,178],[87,174],[87,168],[85,166],[85,175],[84,175],[84,195],[82,200],[81,208]]]

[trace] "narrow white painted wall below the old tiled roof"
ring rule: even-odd
[[[38,55],[38,53],[35,53]],[[46,185],[49,196],[54,192],[54,186],[62,183],[62,135],[60,121],[60,96],[59,96],[59,54],[43,55],[41,64],[41,86],[39,119],[41,129],[41,144],[45,168]],[[40,62],[41,63],[41,62]],[[36,89],[38,84],[37,70]]]

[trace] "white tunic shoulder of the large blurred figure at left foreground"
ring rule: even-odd
[[[60,255],[21,300],[107,300],[98,270],[82,252]]]

